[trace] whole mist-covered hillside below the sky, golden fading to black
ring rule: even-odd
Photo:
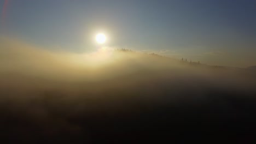
[[[0,48],[1,139],[255,139],[256,74],[138,52]]]

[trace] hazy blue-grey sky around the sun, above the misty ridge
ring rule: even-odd
[[[1,0],[0,34],[42,49],[109,47],[213,65],[256,65],[255,0]]]

